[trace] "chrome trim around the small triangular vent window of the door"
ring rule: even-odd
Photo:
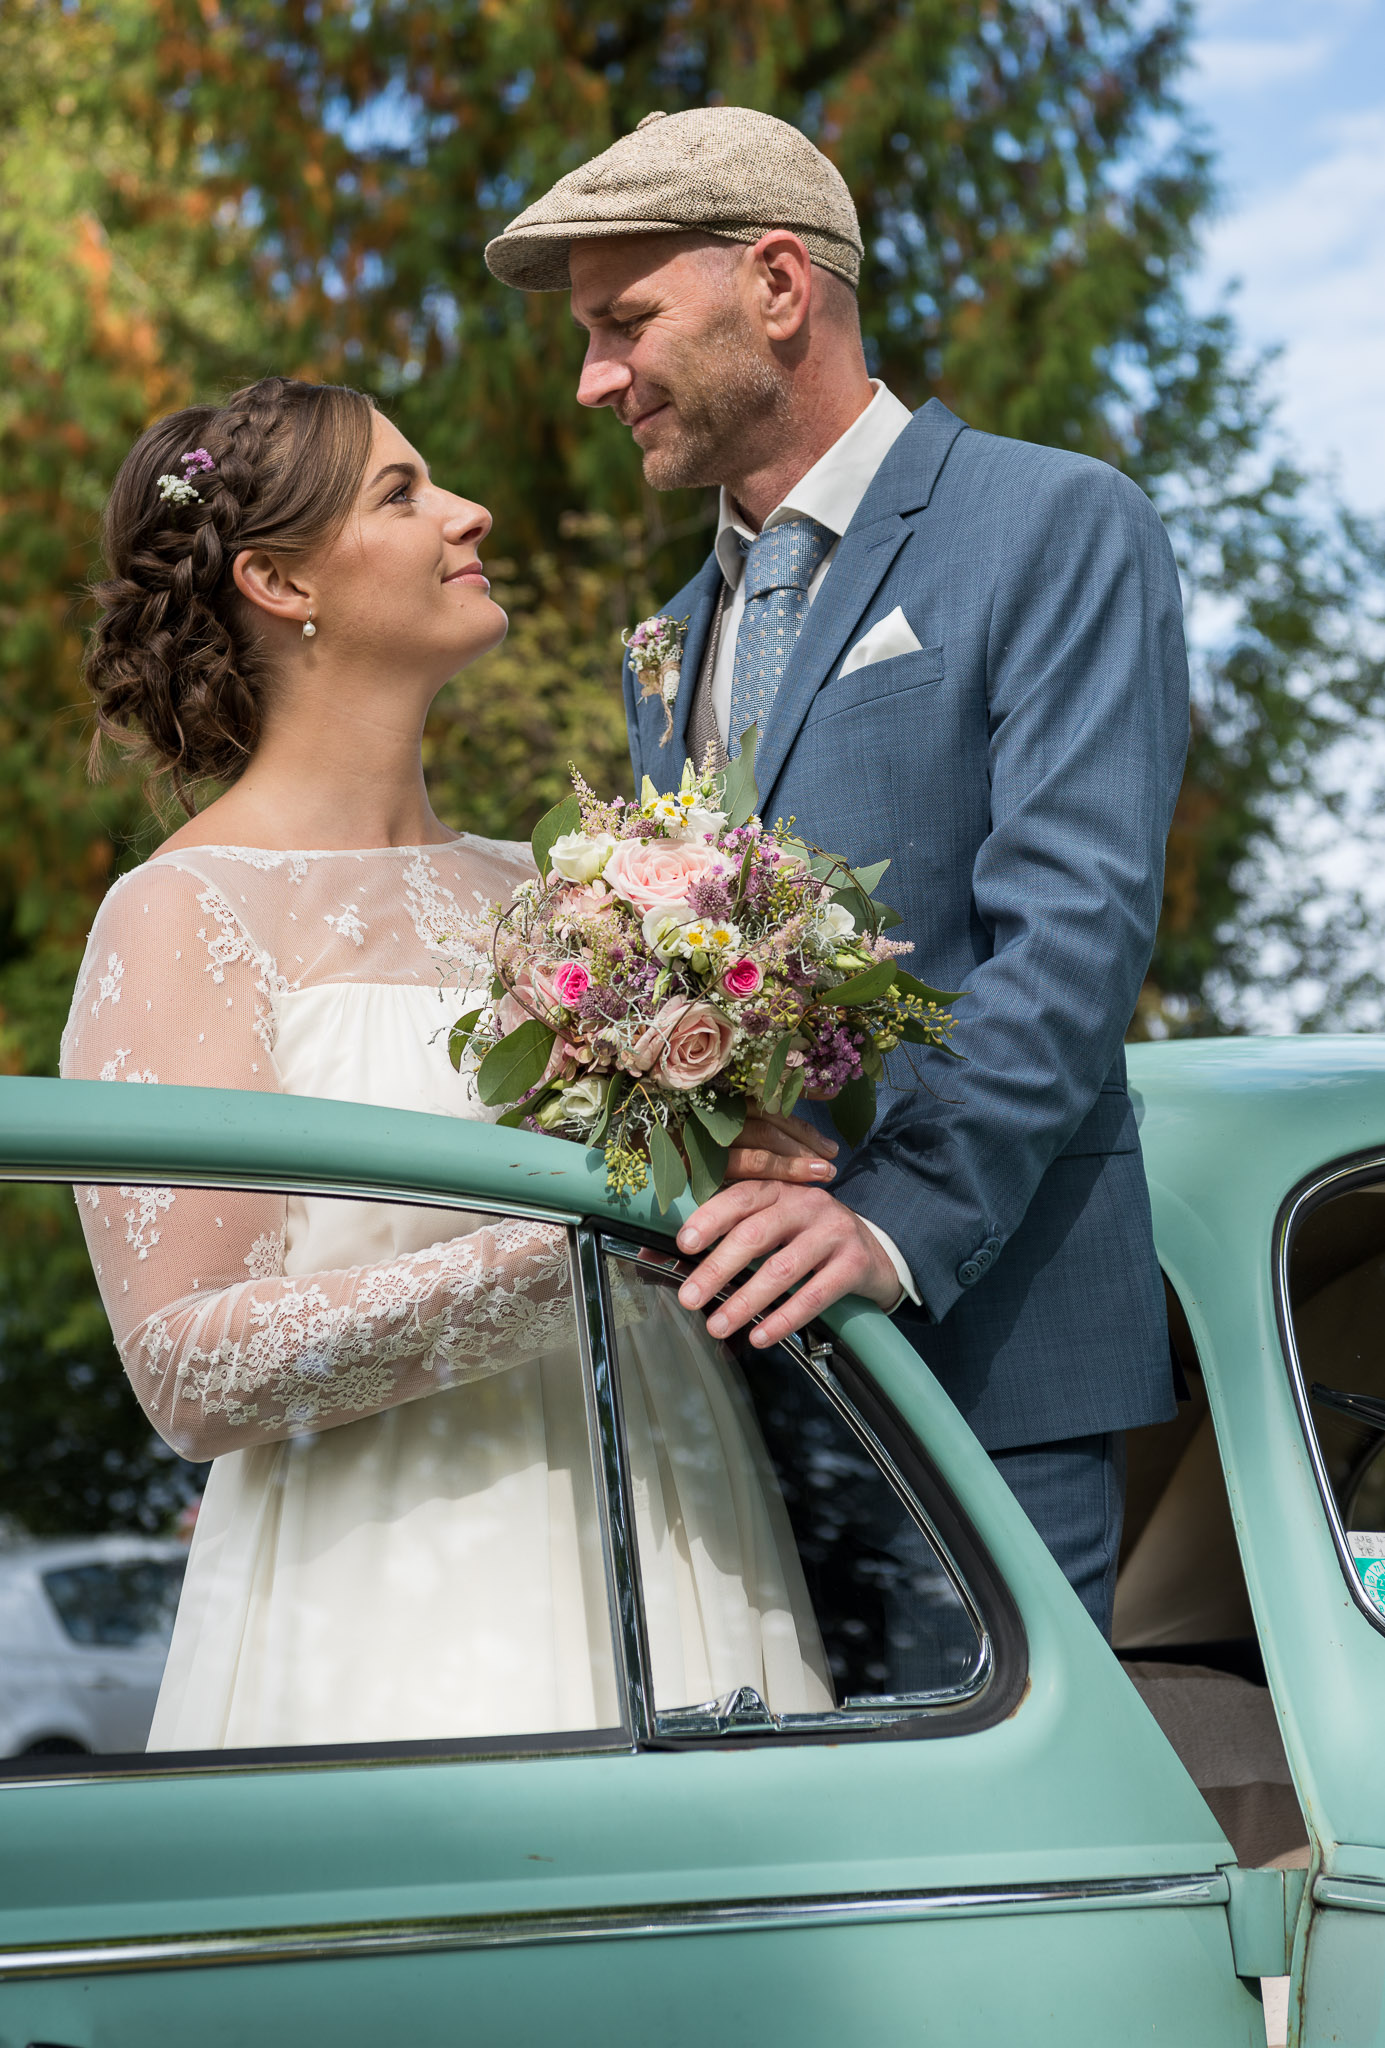
[[[645,1268],[645,1272],[654,1270],[664,1278],[676,1278],[678,1274],[690,1272],[692,1268],[692,1262],[684,1260],[676,1251],[652,1253],[647,1245],[639,1245],[631,1239],[625,1239],[611,1229],[594,1231],[592,1235],[600,1237],[600,1249],[604,1255],[625,1260],[627,1264],[637,1264]],[[586,1233],[580,1233],[580,1237],[586,1237]],[[754,1321],[758,1323],[760,1317],[756,1315]],[[611,1331],[606,1333],[606,1341],[613,1348]],[[979,1655],[977,1655],[975,1677],[969,1686],[959,1686],[951,1692],[920,1696],[918,1700],[910,1700],[910,1704],[895,1704],[885,1696],[881,1696],[879,1700],[869,1700],[867,1704],[863,1696],[861,1706],[854,1708],[838,1706],[822,1714],[770,1716],[764,1712],[764,1708],[760,1708],[764,1718],[758,1720],[748,1718],[744,1729],[740,1731],[733,1724],[727,1724],[725,1716],[717,1712],[725,1702],[713,1700],[705,1702],[703,1706],[670,1708],[664,1714],[656,1712],[654,1714],[656,1737],[682,1745],[682,1743],[717,1743],[717,1741],[785,1741],[795,1737],[832,1739],[842,1735],[869,1737],[885,1733],[908,1733],[910,1724],[936,1722],[949,1714],[957,1714],[969,1706],[975,1706],[975,1702],[981,1700],[990,1690],[990,1683],[996,1673],[996,1651],[990,1628],[985,1626],[985,1618],[981,1616],[971,1595],[971,1589],[967,1587],[957,1567],[957,1559],[953,1556],[951,1546],[942,1540],[932,1516],[918,1499],[914,1487],[899,1470],[895,1458],[889,1454],[889,1450],[885,1448],[877,1432],[871,1427],[871,1423],[865,1419],[865,1415],[861,1415],[856,1403],[850,1399],[850,1395],[846,1393],[846,1389],[840,1384],[830,1364],[826,1362],[834,1346],[836,1339],[824,1346],[809,1346],[803,1333],[795,1333],[783,1339],[783,1350],[787,1350],[793,1358],[797,1358],[803,1370],[822,1389],[822,1393],[828,1397],[828,1401],[842,1417],[846,1427],[861,1442],[867,1454],[875,1460],[887,1485],[893,1489],[899,1505],[906,1509],[906,1513],[910,1513],[916,1520],[926,1540],[932,1544],[938,1563],[942,1565],[977,1634]],[[615,1356],[615,1350],[611,1350],[611,1356]],[[615,1380],[615,1376],[613,1376],[613,1393],[619,1399],[619,1380]],[[629,1526],[633,1530],[633,1511]],[[631,1561],[635,1567],[635,1585],[639,1585],[639,1556],[635,1548],[631,1548]],[[643,1597],[639,1597],[639,1610],[643,1616]],[[647,1681],[647,1700],[649,1704],[654,1702],[652,1675]],[[699,1712],[707,1720],[705,1726],[699,1726],[695,1718]]]

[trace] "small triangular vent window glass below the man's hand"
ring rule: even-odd
[[[611,1255],[658,1729],[897,1724],[975,1692],[985,1638],[826,1366],[717,1343]]]

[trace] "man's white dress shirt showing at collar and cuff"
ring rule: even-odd
[[[779,526],[787,518],[815,518],[820,526],[828,532],[840,537],[850,526],[856,516],[856,506],[871,489],[875,473],[893,449],[899,434],[906,430],[914,414],[904,406],[893,391],[887,391],[879,379],[871,379],[875,397],[861,414],[858,420],[846,428],[840,440],[834,440],[826,455],[822,455],[805,477],[793,485],[783,504],[764,520],[764,528]],[[764,530],[762,528],[762,530]],[[721,614],[721,639],[717,643],[717,666],[711,672],[711,709],[717,721],[717,731],[721,733],[721,745],[729,745],[731,727],[731,674],[736,670],[736,639],[740,635],[742,614],[746,610],[746,557],[742,541],[748,545],[754,541],[754,532],[746,526],[736,510],[733,500],[723,489],[721,492],[721,516],[717,520],[717,561],[721,563],[721,575],[727,582],[729,598]],[[822,580],[832,567],[838,541],[832,543],[828,553],[822,557],[811,584],[807,586],[807,602],[811,606],[813,598],[822,590]],[[807,623],[803,625],[807,631]],[[879,1237],[881,1245],[889,1253],[889,1260],[899,1276],[899,1300],[908,1294],[912,1303],[918,1305],[918,1288],[914,1286],[914,1274],[910,1272],[904,1253],[877,1223],[869,1217],[861,1219],[869,1231]]]

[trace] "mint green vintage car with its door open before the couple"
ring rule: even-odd
[[[14,1231],[64,1182],[131,1217],[272,1188],[568,1231],[611,1702],[354,1747],[37,1737],[0,1763],[0,2048],[1229,2048],[1285,2011],[1291,2042],[1381,2048],[1385,1051],[1147,1047],[1131,1085],[1188,1399],[1131,1442],[1117,1653],[844,1303],[727,1362],[830,1669],[777,1712],[682,1698],[649,1651],[629,1331],[678,1339],[674,1219],[524,1133],[0,1081]],[[0,1411],[8,1343],[0,1315]],[[715,1432],[680,1454],[725,1481]],[[74,1608],[90,1642],[156,1628],[104,1597]]]

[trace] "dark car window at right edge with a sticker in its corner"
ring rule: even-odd
[[[1303,1217],[1287,1309],[1330,1503],[1358,1591],[1385,1618],[1385,1180]]]

